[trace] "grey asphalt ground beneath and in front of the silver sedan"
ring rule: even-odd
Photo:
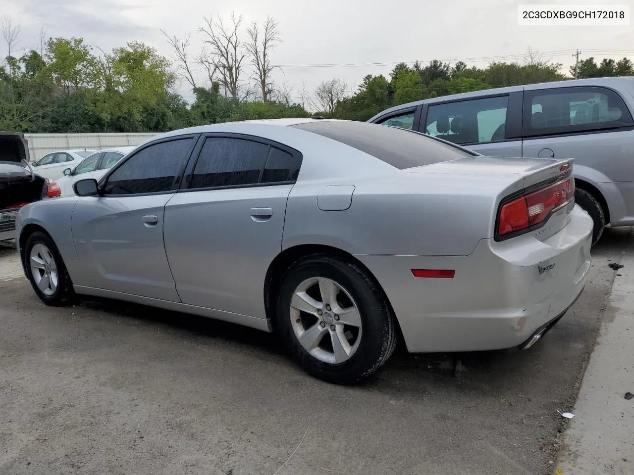
[[[307,376],[244,327],[108,300],[46,307],[0,249],[0,473],[550,472],[557,410],[573,407],[631,234],[606,230],[581,298],[526,352],[399,348],[356,387]]]

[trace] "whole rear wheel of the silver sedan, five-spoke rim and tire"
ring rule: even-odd
[[[276,309],[295,362],[329,383],[361,381],[396,348],[394,317],[372,278],[327,254],[302,258],[285,272]]]

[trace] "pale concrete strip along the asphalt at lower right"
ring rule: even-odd
[[[555,474],[634,474],[634,252],[616,271]]]

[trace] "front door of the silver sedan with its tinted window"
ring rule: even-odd
[[[77,201],[73,239],[89,286],[180,301],[165,255],[164,211],[194,142],[139,149],[107,176],[101,196]]]

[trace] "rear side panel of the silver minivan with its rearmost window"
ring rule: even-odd
[[[575,175],[614,182],[634,217],[634,122],[619,94],[576,86],[524,91],[524,156],[574,158]]]

